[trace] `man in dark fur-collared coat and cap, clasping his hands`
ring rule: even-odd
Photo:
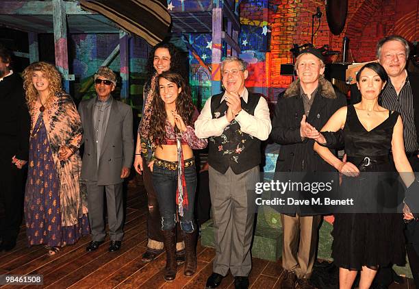
[[[270,138],[281,146],[277,172],[329,172],[333,168],[313,150],[309,123],[320,131],[331,115],[346,105],[341,93],[325,79],[325,64],[320,51],[305,49],[296,59],[299,79],[285,90],[277,102]],[[298,207],[281,214],[283,226],[282,266],[286,271],[281,288],[314,288],[312,274],[318,225],[321,216],[305,216]]]

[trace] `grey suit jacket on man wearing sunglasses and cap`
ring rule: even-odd
[[[118,184],[123,181],[120,173],[123,166],[131,168],[134,156],[132,136],[131,107],[112,99],[109,120],[101,148],[99,167],[97,165],[97,146],[94,142],[93,109],[94,101],[81,101],[79,114],[83,124],[84,155],[81,166],[81,179],[97,181],[98,186]]]

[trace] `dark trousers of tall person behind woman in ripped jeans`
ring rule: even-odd
[[[150,168],[147,166],[147,161],[142,158],[142,181],[144,183],[144,188],[147,191],[147,234],[149,237],[149,243],[147,244],[148,249],[156,249],[150,246],[151,243],[161,243],[160,249],[163,248],[163,235],[160,220],[160,211],[159,211],[159,202],[157,201],[157,194],[155,193],[153,187],[153,174],[150,171]],[[181,229],[177,226],[177,242],[183,241],[183,236],[181,234]],[[151,241],[151,242],[150,242]],[[156,246],[157,247],[157,246]]]

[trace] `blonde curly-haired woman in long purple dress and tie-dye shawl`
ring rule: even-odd
[[[83,135],[73,99],[61,75],[46,62],[23,71],[31,115],[25,221],[29,246],[45,244],[54,255],[88,234],[87,199],[81,194],[78,150]]]

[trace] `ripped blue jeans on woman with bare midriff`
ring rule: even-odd
[[[185,168],[186,189],[188,192],[188,208],[183,208],[183,216],[179,216],[182,231],[192,233],[194,224],[194,199],[196,190],[195,166]],[[160,215],[162,216],[161,229],[170,231],[176,225],[176,190],[177,170],[169,170],[162,166],[153,166],[153,187],[159,202]]]

